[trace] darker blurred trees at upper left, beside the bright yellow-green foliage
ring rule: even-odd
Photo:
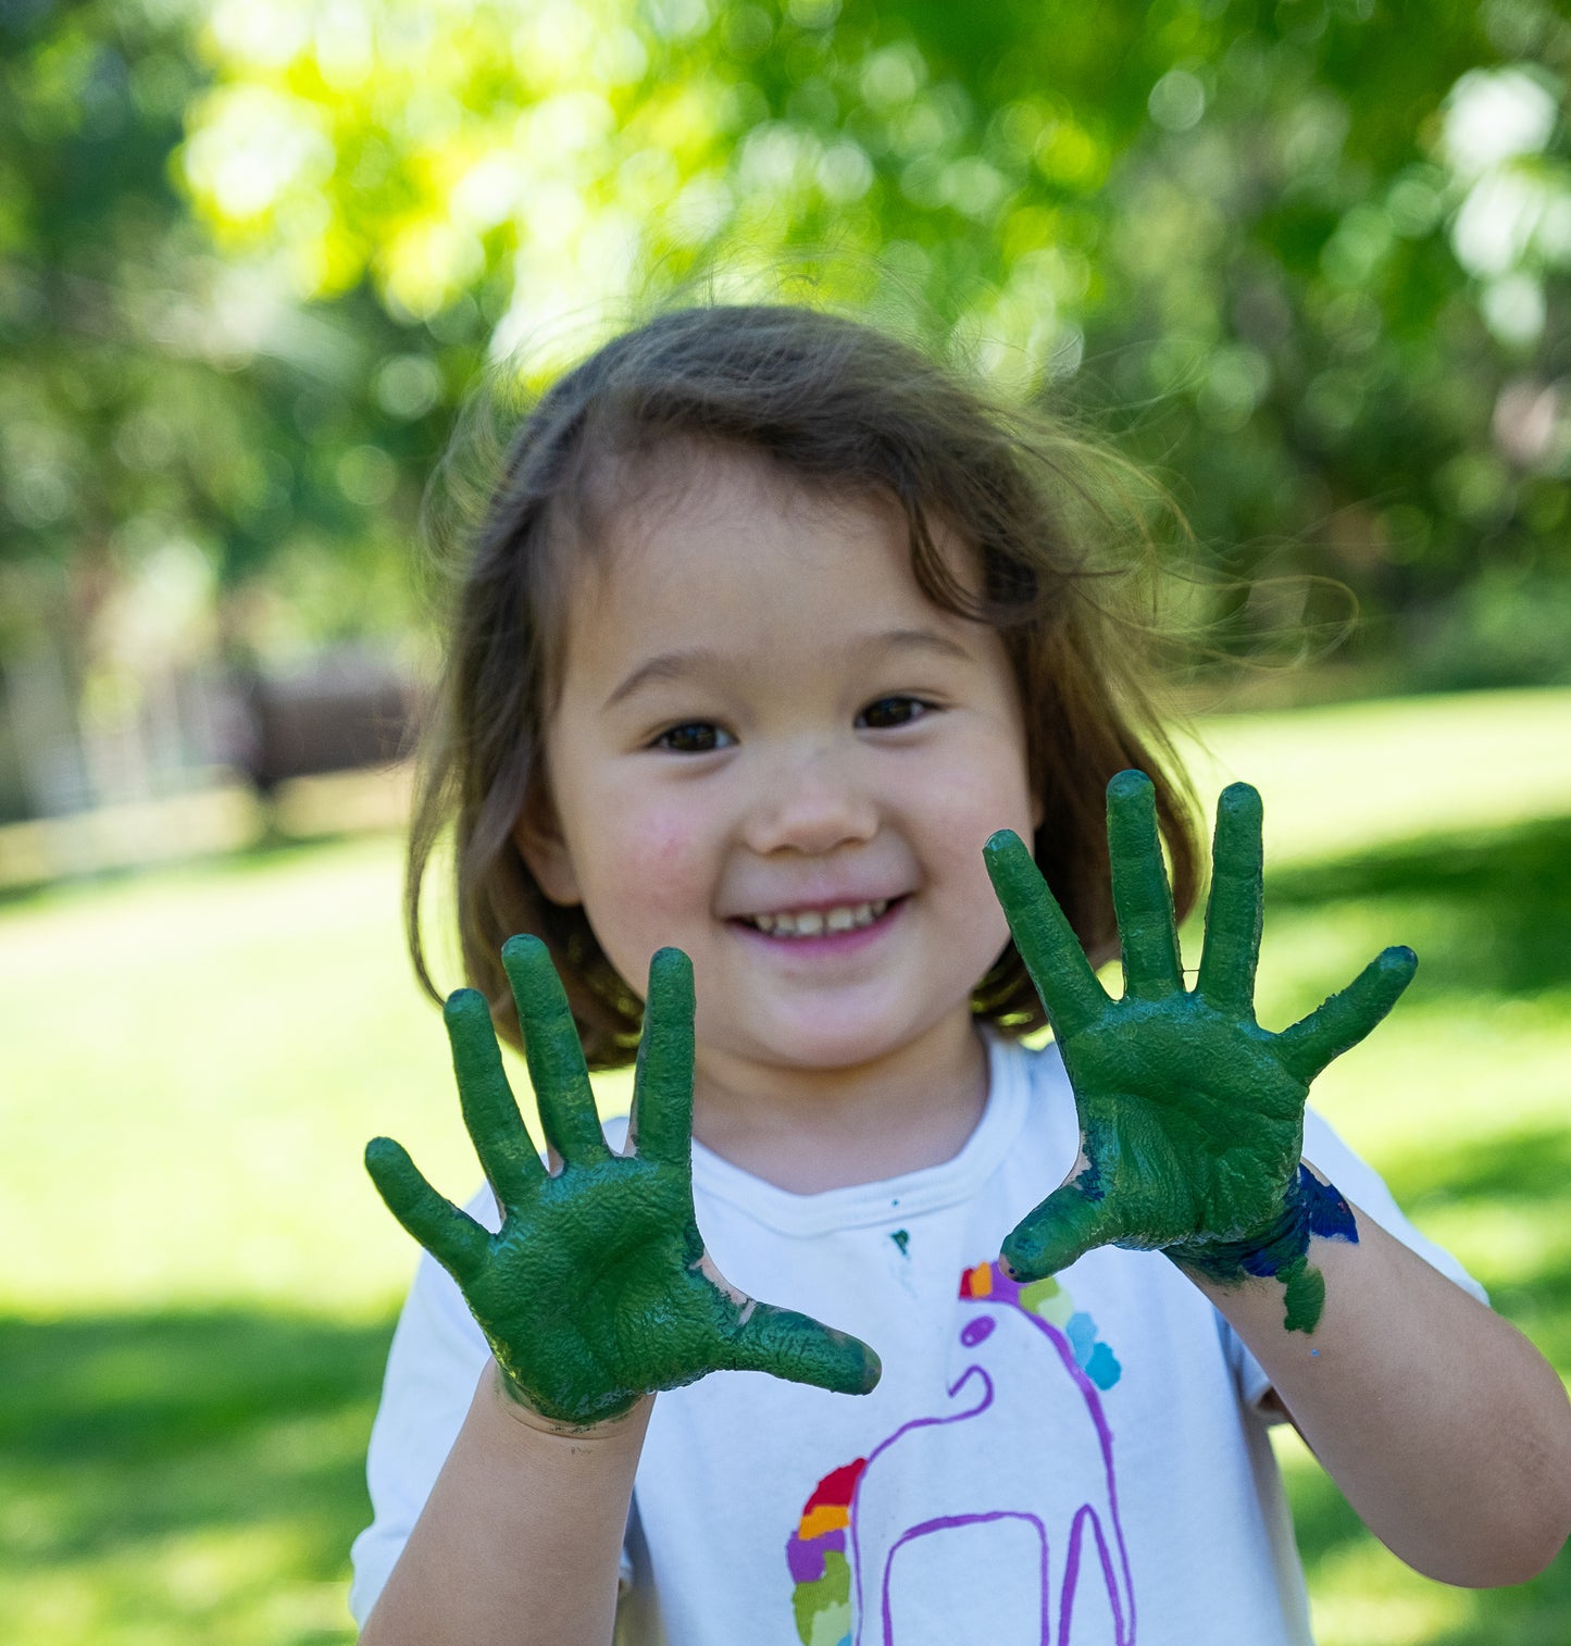
[[[0,10],[0,657],[48,642],[89,685],[407,621],[407,578],[379,573],[441,438],[425,328],[405,357],[367,293],[303,308],[191,219],[170,165],[191,23]],[[282,604],[252,597],[263,571]]]

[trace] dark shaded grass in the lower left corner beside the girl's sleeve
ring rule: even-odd
[[[38,1597],[61,1585],[97,1608],[0,1636],[140,1641],[161,1618],[250,1639],[235,1613],[259,1593],[341,1585],[390,1333],[240,1309],[0,1320],[0,1625],[30,1595],[58,1611]],[[341,1595],[326,1611],[273,1638],[347,1638]]]

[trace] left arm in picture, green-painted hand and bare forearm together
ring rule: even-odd
[[[692,1195],[693,986],[654,956],[629,1146],[594,1113],[545,946],[512,938],[547,1172],[502,1072],[486,1001],[446,1004],[464,1126],[502,1211],[492,1234],[379,1137],[366,1165],[389,1210],[458,1282],[492,1361],[366,1626],[379,1646],[591,1646],[611,1638],[618,1559],[652,1396],[716,1369],[865,1393],[856,1338],[730,1287]]]

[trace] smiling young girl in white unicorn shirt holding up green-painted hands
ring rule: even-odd
[[[1566,1537],[1558,1378],[1304,1114],[1411,956],[1255,1024],[1242,785],[1186,988],[1197,851],[1064,449],[794,308],[667,314],[519,430],[410,892],[456,823],[491,1192],[367,1151],[440,1259],[367,1643],[1306,1641],[1280,1419],[1444,1582]],[[631,1126],[580,1042],[637,1049]]]

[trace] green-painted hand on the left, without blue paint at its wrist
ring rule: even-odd
[[[502,948],[540,1124],[562,1160],[547,1172],[519,1119],[486,1001],[446,1002],[464,1126],[502,1208],[491,1234],[420,1175],[390,1137],[366,1167],[392,1215],[448,1269],[509,1393],[557,1422],[588,1425],[642,1394],[708,1371],[769,1371],[846,1394],[878,1383],[858,1338],[736,1292],[708,1261],[693,1216],[693,971],[680,950],[649,966],[629,1152],[599,1129],[566,996],[545,945]]]

